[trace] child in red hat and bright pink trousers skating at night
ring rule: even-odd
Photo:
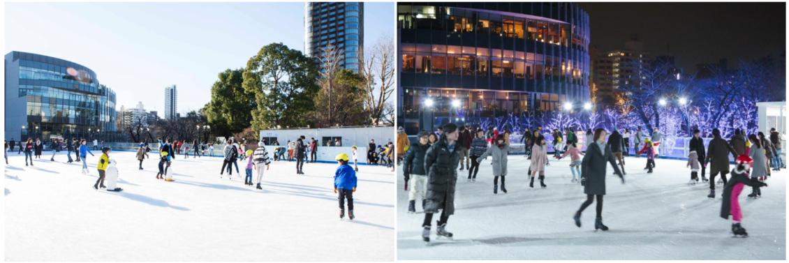
[[[745,228],[740,224],[742,222],[742,209],[739,206],[739,194],[742,193],[742,188],[746,185],[751,187],[767,187],[767,183],[762,183],[757,180],[748,179],[748,169],[753,164],[753,159],[746,155],[740,155],[735,160],[735,170],[731,172],[731,180],[726,183],[724,187],[724,202],[720,206],[720,217],[729,219],[731,214],[731,232],[735,236],[742,235],[748,236]]]

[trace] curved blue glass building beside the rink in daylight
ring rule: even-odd
[[[5,84],[6,139],[101,140],[115,131],[115,92],[83,65],[12,51]]]

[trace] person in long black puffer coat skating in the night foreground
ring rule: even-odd
[[[452,239],[447,232],[447,220],[454,213],[454,187],[458,178],[460,148],[457,144],[458,127],[449,123],[443,127],[441,139],[428,148],[424,154],[424,169],[428,172],[428,190],[424,222],[422,223],[422,240],[430,242],[430,228],[433,213],[442,210],[437,223],[436,235]]]

